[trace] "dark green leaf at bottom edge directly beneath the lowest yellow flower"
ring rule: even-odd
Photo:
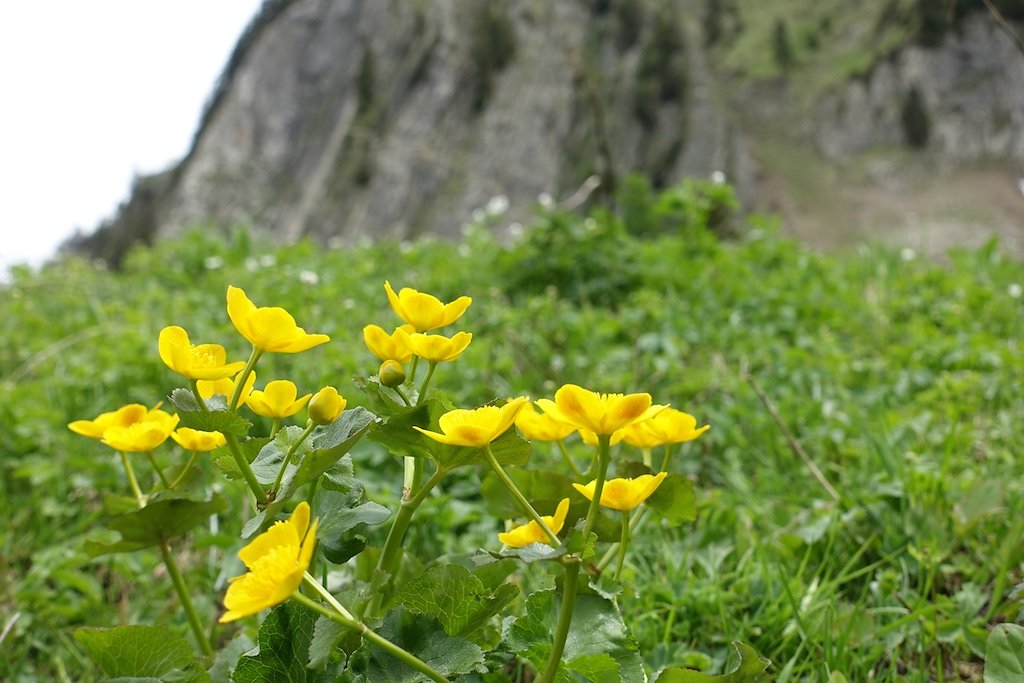
[[[306,668],[315,622],[312,610],[295,602],[274,607],[260,625],[256,651],[239,657],[231,680],[234,683],[332,680],[325,673]]]

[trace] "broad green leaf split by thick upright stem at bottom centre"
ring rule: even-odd
[[[505,642],[515,652],[543,671],[551,654],[551,634],[555,631],[560,600],[554,591],[538,591],[526,599],[525,614],[508,629]],[[611,600],[582,593],[569,626],[559,678],[572,681],[568,672],[593,683],[621,681],[643,683],[646,674],[637,643]],[[615,664],[612,672],[608,659]],[[613,677],[614,676],[614,677]]]

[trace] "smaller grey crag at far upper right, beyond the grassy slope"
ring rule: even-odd
[[[946,161],[1024,162],[1024,55],[987,13],[966,17],[938,48],[905,47],[823,97],[813,116],[818,147],[845,158],[903,143],[914,97],[923,142]]]

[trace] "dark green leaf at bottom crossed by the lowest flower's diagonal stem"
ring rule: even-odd
[[[463,638],[445,635],[435,620],[413,614],[402,607],[388,612],[378,633],[446,678],[486,671],[483,650],[478,646]],[[367,683],[421,683],[425,680],[423,674],[401,659],[369,643],[364,643],[352,655],[349,666],[353,673],[362,674]]]

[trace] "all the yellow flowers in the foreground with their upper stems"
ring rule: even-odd
[[[409,288],[396,294],[387,282],[384,289],[402,325],[390,333],[376,325],[368,325],[362,330],[364,340],[370,351],[382,361],[378,373],[381,384],[395,389],[401,400],[412,407],[414,402],[402,392],[401,386],[415,379],[417,364],[420,360],[428,364],[426,378],[414,395],[415,401],[419,403],[425,397],[437,365],[458,358],[472,341],[472,334],[468,332],[457,332],[451,337],[428,333],[457,322],[470,306],[472,299],[463,296],[450,303],[442,303],[429,294]],[[261,390],[255,388],[255,366],[263,353],[304,351],[329,341],[327,335],[307,333],[283,308],[257,307],[245,292],[236,287],[227,289],[227,313],[234,328],[252,345],[248,361],[228,362],[226,351],[219,344],[193,344],[188,333],[180,327],[167,327],[160,333],[158,348],[161,359],[172,371],[188,380],[200,411],[209,411],[206,400],[220,394],[226,400],[228,412],[248,405],[256,415],[272,420],[273,436],[282,420],[291,418],[306,408],[306,429],[299,437],[299,442],[310,434],[314,426],[330,424],[341,416],[347,401],[331,386],[324,387],[315,394],[306,393],[301,396],[298,395],[295,384],[288,380],[273,380]],[[412,367],[407,374],[404,366],[410,361]],[[535,410],[535,405],[540,412]],[[140,507],[145,505],[145,497],[141,495],[124,454],[148,454],[165,485],[173,488],[181,480],[181,476],[177,477],[175,484],[170,484],[152,458],[152,452],[168,437],[194,452],[194,459],[196,453],[213,451],[226,444],[236,458],[240,471],[246,476],[255,501],[265,505],[273,500],[282,481],[281,474],[288,464],[287,456],[282,463],[278,481],[269,490],[264,490],[253,475],[233,435],[186,427],[175,429],[178,421],[178,416],[160,410],[159,404],[147,409],[133,403],[112,413],[103,413],[93,420],[73,422],[69,427],[77,433],[98,438],[121,452]],[[542,398],[531,404],[529,398],[520,396],[500,405],[447,412],[439,418],[439,431],[415,427],[434,441],[485,451],[495,471],[531,517],[525,524],[498,536],[501,543],[511,548],[521,548],[531,543],[558,545],[557,535],[562,530],[569,509],[569,499],[566,498],[557,504],[553,515],[539,515],[505,474],[492,453],[490,444],[513,425],[527,440],[559,442],[574,473],[581,478],[588,477],[583,477],[575,468],[561,442],[573,432],[579,432],[586,443],[597,446],[598,455],[595,456],[590,474],[595,478],[587,483],[574,483],[573,486],[591,501],[586,532],[593,527],[598,506],[623,513],[624,547],[628,537],[629,511],[646,501],[668,473],[658,471],[636,478],[606,479],[609,446],[625,441],[649,453],[655,446],[695,439],[709,429],[708,426],[697,427],[696,420],[686,413],[668,405],[654,404],[650,394],[597,393],[574,384],[566,384],[558,389],[553,400]],[[293,451],[297,443],[292,444]],[[185,470],[191,462],[185,466]],[[410,467],[415,472],[415,468],[419,466],[419,463],[407,462],[408,486],[419,485],[416,483],[417,477],[410,475]],[[660,469],[664,470],[665,465]],[[422,472],[417,472],[418,474]],[[433,484],[424,484],[421,487],[420,496],[409,508],[401,523],[408,524],[415,505],[429,492],[431,485]],[[597,503],[594,503],[595,498]],[[403,502],[403,507],[408,505],[408,501]],[[300,503],[290,519],[275,522],[240,551],[239,557],[248,571],[231,581],[224,599],[227,611],[221,622],[256,613],[295,594],[305,577],[315,543],[317,520],[310,520],[310,514],[309,505]],[[392,528],[392,535],[400,543],[402,533],[394,531]],[[381,556],[381,566],[385,569],[383,574],[393,572],[393,567],[386,566],[396,557],[396,549],[391,547],[391,542],[389,537]]]

